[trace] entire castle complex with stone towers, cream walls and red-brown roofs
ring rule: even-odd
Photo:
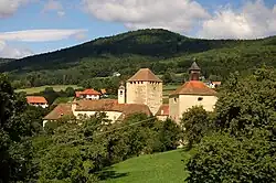
[[[189,69],[190,80],[169,96],[169,104],[162,104],[162,80],[149,68],[140,68],[126,85],[118,88],[118,99],[74,100],[71,104],[61,104],[45,118],[56,120],[63,116],[79,118],[96,112],[106,112],[113,122],[123,120],[132,114],[156,116],[160,120],[173,119],[179,123],[181,116],[192,106],[203,106],[208,111],[214,109],[216,92],[200,82],[200,67],[194,62]]]

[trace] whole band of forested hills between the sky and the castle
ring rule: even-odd
[[[0,62],[15,88],[77,84],[119,72],[127,77],[140,67],[156,74],[185,73],[197,58],[205,78],[252,73],[276,65],[276,36],[262,40],[200,40],[166,30],[139,30],[73,47]],[[87,82],[86,82],[87,83]]]

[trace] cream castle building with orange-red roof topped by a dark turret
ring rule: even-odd
[[[169,118],[179,123],[182,114],[193,106],[213,111],[217,100],[216,92],[200,82],[200,67],[194,62],[190,67],[190,80],[169,96]]]

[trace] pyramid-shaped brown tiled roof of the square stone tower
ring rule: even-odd
[[[140,68],[128,82],[162,82],[149,68]]]

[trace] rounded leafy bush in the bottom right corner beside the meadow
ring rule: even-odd
[[[230,134],[203,138],[188,163],[189,183],[276,182],[275,142],[256,132],[251,139]]]

